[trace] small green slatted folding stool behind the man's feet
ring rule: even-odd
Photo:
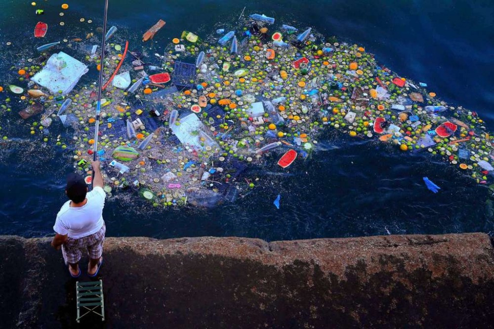
[[[95,313],[101,317],[101,321],[105,321],[105,305],[103,303],[103,282],[90,281],[90,282],[77,282],[76,283],[76,295],[77,295],[77,322],[81,318],[89,313]],[[101,307],[101,313],[95,310]],[[81,308],[85,308],[87,311],[81,315]],[[84,310],[85,311],[85,310]]]

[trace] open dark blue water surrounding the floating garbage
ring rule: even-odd
[[[61,2],[39,2],[45,9],[42,19],[29,1],[1,1],[0,77],[4,79],[16,54],[33,53],[30,42],[37,21],[50,24],[49,31],[61,39],[81,37],[101,26],[103,1],[69,3],[64,17],[58,16]],[[153,45],[159,48],[182,30],[206,36],[217,27],[234,25],[244,6],[246,14],[264,13],[363,45],[402,76],[427,82],[445,100],[477,111],[494,131],[492,1],[110,0],[109,25],[134,35],[137,47],[142,45],[137,41],[142,33],[163,18],[166,26]],[[81,27],[81,17],[92,19],[92,25]],[[66,23],[63,28],[57,26],[60,21]],[[7,48],[6,41],[13,45]],[[15,123],[18,130],[11,129],[9,136],[27,137],[29,128]],[[461,176],[451,165],[428,154],[404,155],[335,132],[319,140],[320,149],[306,162],[293,164],[287,176],[274,174],[280,172],[276,157],[268,158],[264,171],[253,168],[260,178],[258,188],[235,204],[164,211],[135,196],[111,198],[104,211],[107,235],[281,240],[493,230],[487,188]],[[51,234],[56,212],[65,201],[64,176],[72,170],[69,153],[29,141],[1,152],[0,234]],[[441,192],[429,192],[422,176],[441,186]],[[272,205],[278,194],[282,196],[279,210]]]

